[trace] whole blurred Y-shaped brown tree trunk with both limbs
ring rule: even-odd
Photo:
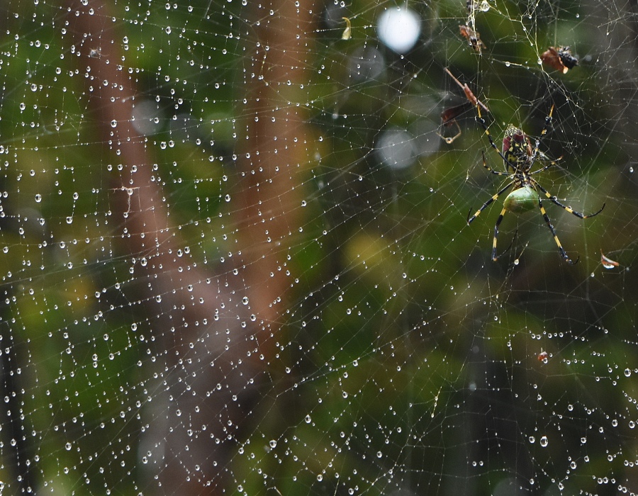
[[[105,1],[69,3],[67,39],[86,81],[94,126],[107,149],[104,157],[113,164],[113,230],[131,264],[133,258],[147,260],[143,268],[135,264],[135,297],[146,315],[135,319],[147,318],[155,337],[152,354],[165,362],[156,389],[145,384],[139,391],[141,396],[147,388],[154,398],[145,406],[142,422],[149,429],[138,451],[149,459],[148,485],[159,475],[160,492],[166,494],[221,494],[229,482],[228,464],[236,440],[250,429],[259,376],[267,376],[286,310],[291,286],[286,257],[300,225],[299,164],[308,142],[295,104],[306,97],[295,91],[306,77],[313,33],[311,2],[294,4],[276,0],[252,7],[254,18],[262,21],[257,39],[247,41],[245,63],[264,77],[240,74],[246,95],[236,95],[237,101],[249,101],[237,108],[247,123],[245,139],[237,145],[242,181],[230,203],[238,229],[237,277],[228,270],[211,274],[189,254],[177,257],[184,241],[171,222],[175,216],[169,216],[159,181],[152,180],[152,149],[131,123],[138,91],[121,50],[125,33],[116,33],[126,26],[113,22]],[[274,16],[268,14],[271,9]],[[248,305],[242,303],[245,297]]]

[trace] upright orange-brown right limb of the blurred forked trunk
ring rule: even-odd
[[[242,181],[235,188],[241,202],[241,265],[250,305],[259,316],[259,336],[267,347],[286,310],[286,301],[278,298],[291,287],[292,277],[286,275],[289,248],[301,225],[299,186],[312,147],[303,88],[308,87],[314,10],[310,1],[301,7],[295,3],[276,0],[254,6],[254,19],[262,22],[255,28],[256,39],[248,41],[252,57],[244,60],[245,74],[262,77],[246,77],[247,94],[237,96],[248,100],[245,140],[239,144]],[[269,16],[271,9],[276,16]]]

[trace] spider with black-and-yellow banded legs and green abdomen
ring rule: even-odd
[[[537,190],[541,191],[549,201],[554,203],[554,205],[558,205],[560,208],[567,210],[569,213],[576,215],[576,217],[581,219],[586,219],[593,217],[594,215],[598,215],[600,212],[603,211],[603,208],[605,208],[605,203],[603,203],[603,206],[600,207],[600,210],[598,210],[598,212],[591,213],[590,215],[583,215],[580,212],[576,212],[576,210],[572,210],[571,207],[563,205],[561,202],[558,201],[558,198],[556,198],[556,196],[549,193],[547,189],[543,188],[540,184],[538,184],[538,181],[532,177],[534,174],[539,174],[539,172],[545,171],[549,169],[549,167],[553,167],[554,165],[556,165],[560,158],[557,160],[553,160],[540,169],[532,171],[532,166],[534,165],[534,162],[537,159],[537,155],[539,154],[540,140],[536,140],[535,146],[532,149],[532,141],[523,132],[523,130],[510,124],[505,130],[505,136],[503,137],[503,152],[501,152],[500,150],[498,150],[498,147],[492,140],[492,136],[490,134],[490,131],[488,130],[485,119],[483,119],[483,116],[481,115],[481,108],[478,105],[476,105],[476,113],[478,114],[476,120],[478,120],[478,123],[481,124],[483,130],[485,130],[485,134],[490,141],[490,146],[494,150],[496,150],[498,156],[503,159],[503,162],[505,164],[505,171],[495,171],[490,166],[488,166],[485,159],[485,152],[482,152],[483,167],[485,167],[491,174],[495,174],[496,176],[507,176],[508,179],[511,179],[511,181],[503,186],[503,188],[501,188],[500,191],[498,191],[498,193],[492,196],[488,201],[483,203],[481,208],[476,210],[476,213],[474,213],[474,215],[472,215],[471,217],[469,215],[471,213],[470,210],[467,217],[467,224],[470,225],[471,222],[476,219],[478,215],[483,212],[483,210],[485,210],[493,201],[498,199],[498,197],[505,193],[505,191],[508,191],[509,188],[513,188],[508,196],[505,197],[505,201],[503,201],[503,210],[500,211],[500,215],[498,216],[496,225],[494,226],[492,260],[496,261],[498,259],[498,257],[496,256],[496,239],[498,238],[498,227],[500,226],[500,222],[503,220],[505,213],[525,213],[529,212],[535,207],[538,207],[545,220],[545,223],[547,224],[547,227],[549,227],[549,230],[552,232],[552,237],[554,237],[554,241],[556,242],[556,246],[559,249],[561,257],[563,257],[563,259],[568,264],[576,264],[580,257],[578,257],[576,261],[573,261],[568,257],[565,249],[558,239],[558,235],[556,235],[556,230],[552,225],[552,221],[549,220],[549,215],[547,215],[547,212],[543,207],[541,198]],[[552,108],[549,111],[549,115],[547,115],[547,117],[545,118],[545,125],[540,135],[541,138],[547,134],[549,125],[552,123],[553,113],[554,106],[552,105]]]

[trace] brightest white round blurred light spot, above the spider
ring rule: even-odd
[[[421,20],[410,9],[387,9],[376,25],[379,40],[397,53],[412,49],[421,35]]]

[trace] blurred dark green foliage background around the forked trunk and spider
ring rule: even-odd
[[[487,495],[503,480],[534,494],[631,488],[638,196],[630,13],[610,21],[601,45],[611,7],[499,1],[476,13],[486,45],[477,54],[459,36],[464,2],[410,4],[423,31],[400,56],[374,28],[393,6],[336,9],[331,18],[352,21],[350,40],[315,6],[309,80],[295,88],[310,131],[299,145],[304,206],[288,239],[291,290],[272,337],[278,352],[218,469],[224,482],[213,486],[281,495],[355,486],[357,494]],[[253,77],[245,67],[260,17],[235,1],[169,7],[114,4],[121,63],[139,97],[157,103],[157,131],[145,145],[171,225],[211,274],[229,274],[242,193],[233,188],[243,174],[233,155],[245,138]],[[96,130],[65,34],[67,7],[4,9],[0,337],[4,376],[18,387],[11,392],[6,379],[0,480],[20,487],[16,460],[28,458],[43,492],[161,493],[153,474],[162,466],[144,466],[140,439],[153,427],[145,405],[162,389],[156,359],[170,349],[154,344],[138,299],[145,281],[133,259],[143,254],[127,253],[111,222],[119,159]],[[538,64],[561,44],[581,55],[567,74]],[[371,47],[384,67],[357,79],[352,57]],[[468,210],[499,184],[481,167],[481,151],[491,167],[500,164],[471,108],[452,145],[435,134],[444,108],[464,102],[446,67],[489,106],[497,143],[510,122],[538,136],[556,105],[540,150],[562,157],[561,167],[539,181],[576,210],[606,204],[585,221],[547,207],[564,247],[581,257],[576,266],[561,261],[537,213],[508,215],[499,247],[514,241],[496,263],[500,201],[466,226]],[[384,167],[375,144],[393,127],[437,151],[401,171]],[[603,269],[600,250],[620,266]]]

